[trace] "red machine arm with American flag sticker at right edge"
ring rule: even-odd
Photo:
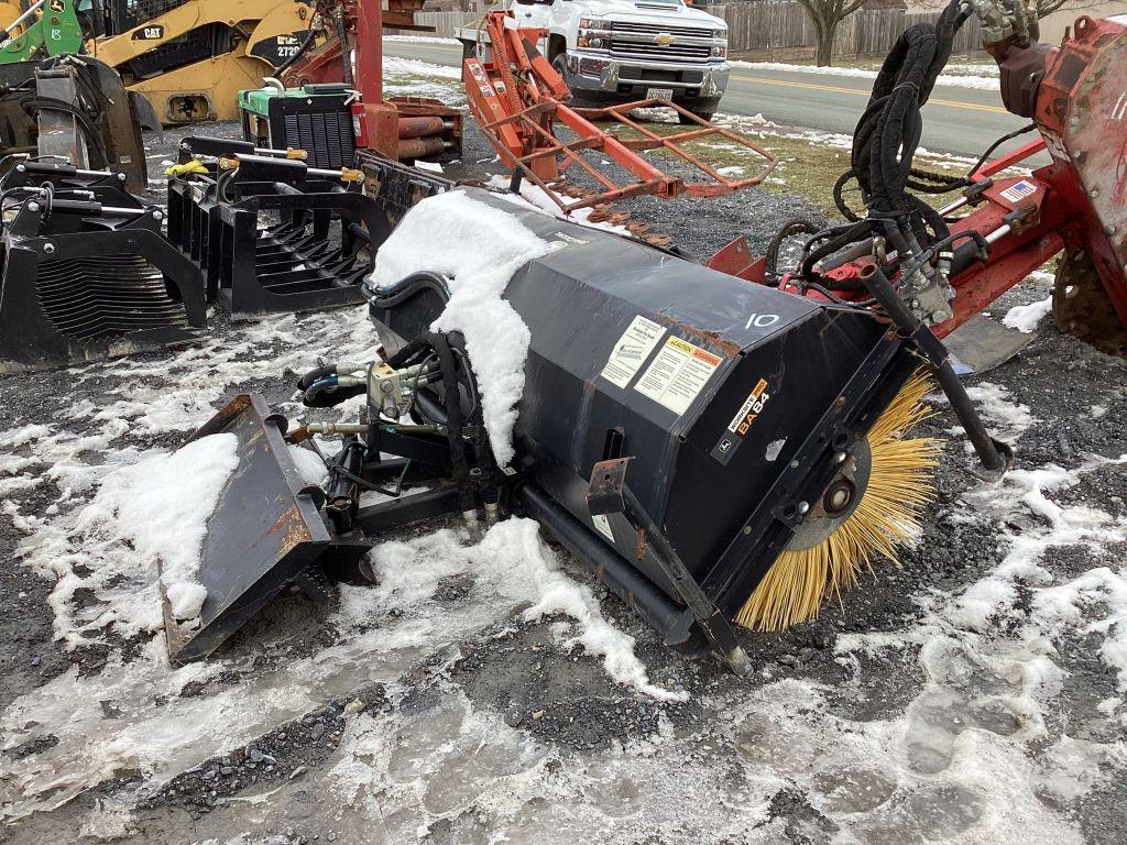
[[[950,335],[1064,250],[1054,291],[1058,327],[1106,352],[1127,352],[1127,27],[1082,17],[1059,47],[991,46],[1006,108],[1031,117],[1040,139],[979,167],[964,196],[940,210],[949,216],[971,207],[950,230],[982,238],[990,251],[961,268],[955,261],[950,315],[932,322],[932,332]],[[1050,164],[993,178],[1042,150]],[[844,255],[816,266],[816,277],[851,301],[868,293],[845,293],[842,283],[893,266],[876,255]],[[895,270],[889,278],[896,281]],[[825,299],[809,281],[793,274],[782,286]]]

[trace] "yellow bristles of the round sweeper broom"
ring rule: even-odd
[[[862,571],[872,572],[873,557],[899,566],[896,546],[920,531],[939,459],[939,441],[905,436],[931,415],[923,401],[930,386],[923,373],[905,383],[866,437],[871,465],[855,509],[819,542],[786,549],[740,608],[738,624],[778,631],[806,622],[827,598],[855,587]]]

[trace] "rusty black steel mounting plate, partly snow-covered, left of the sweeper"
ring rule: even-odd
[[[189,438],[234,434],[239,466],[207,522],[199,563],[207,598],[198,619],[178,623],[163,596],[168,651],[175,664],[210,655],[290,585],[314,596],[331,595],[314,568],[330,544],[318,512],[322,493],[302,481],[283,438],[285,427],[285,418],[272,415],[260,395],[245,393]]]

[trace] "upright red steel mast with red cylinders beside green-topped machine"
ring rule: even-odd
[[[309,83],[340,82],[355,88],[353,104],[356,146],[376,150],[392,159],[417,159],[461,150],[462,114],[441,100],[421,97],[383,97],[384,25],[416,29],[414,11],[421,0],[323,0],[300,54],[281,73],[287,88]],[[329,23],[331,21],[331,27]],[[320,43],[318,42],[320,36]],[[355,56],[343,60],[341,45]]]

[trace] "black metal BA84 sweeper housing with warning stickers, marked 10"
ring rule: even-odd
[[[532,338],[516,501],[669,644],[690,648],[699,614],[637,521],[593,513],[595,465],[632,459],[637,501],[731,619],[916,361],[869,312],[467,193],[556,247],[505,293]],[[426,274],[369,295],[389,352],[426,332],[447,299]]]

